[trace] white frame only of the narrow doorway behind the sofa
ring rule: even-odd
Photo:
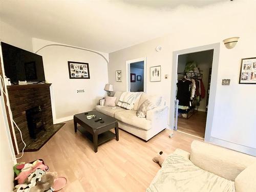
[[[141,57],[137,59],[127,60],[126,61],[126,91],[130,92],[131,90],[131,76],[130,76],[130,65],[134,62],[144,61],[144,82],[143,82],[143,92],[146,93],[146,57]]]

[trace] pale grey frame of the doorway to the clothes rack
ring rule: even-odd
[[[209,93],[209,103],[205,127],[205,141],[210,141],[210,133],[212,128],[212,120],[214,118],[214,108],[215,108],[215,97],[217,90],[217,79],[218,79],[218,68],[219,68],[219,56],[220,56],[220,43],[210,44],[200,47],[194,47],[173,52],[173,66],[172,66],[172,82],[170,91],[170,128],[174,129],[174,118],[175,118],[175,100],[176,100],[176,83],[177,83],[177,72],[178,72],[178,57],[179,55],[196,53],[201,51],[214,50],[214,55],[212,58],[212,71],[211,71],[211,85]]]

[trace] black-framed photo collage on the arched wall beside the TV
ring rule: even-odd
[[[90,79],[89,63],[68,61],[70,79]]]

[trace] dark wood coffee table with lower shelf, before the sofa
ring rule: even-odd
[[[74,128],[75,133],[80,131],[82,134],[86,135],[94,143],[94,152],[98,152],[98,146],[110,141],[114,137],[116,140],[119,140],[118,136],[118,122],[113,117],[104,115],[97,111],[89,111],[88,114],[84,113],[74,115]],[[96,115],[94,119],[87,119],[88,115]],[[100,121],[95,122],[96,119],[102,118],[104,123]],[[77,127],[77,123],[81,126]],[[115,133],[112,133],[110,130],[115,128]]]

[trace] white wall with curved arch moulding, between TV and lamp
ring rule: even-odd
[[[34,52],[56,42],[33,38]],[[46,47],[37,54],[42,55],[46,80],[52,83],[51,97],[55,123],[73,119],[73,115],[94,109],[98,100],[105,95],[108,83],[108,65],[92,52],[67,47]],[[101,53],[106,58],[108,54]],[[70,79],[68,61],[88,62],[90,79]],[[77,89],[85,89],[78,94]]]

